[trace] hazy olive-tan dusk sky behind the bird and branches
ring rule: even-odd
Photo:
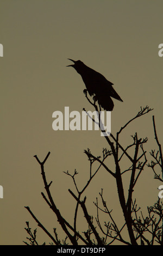
[[[53,180],[55,202],[68,220],[73,221],[74,200],[68,188],[75,191],[70,177],[62,171],[79,172],[82,188],[89,175],[89,163],[83,154],[90,148],[101,155],[108,147],[99,131],[53,131],[52,113],[92,110],[83,94],[85,85],[67,58],[82,60],[101,72],[123,99],[114,100],[111,132],[118,131],[142,106],[153,112],[134,121],[123,132],[122,144],[131,142],[130,135],[148,137],[146,150],[156,148],[152,115],[155,115],[160,142],[162,139],[162,63],[158,46],[163,43],[162,0],[15,0],[0,3],[1,58],[1,245],[22,245],[26,240],[26,221],[37,227],[24,206],[53,233],[60,228],[55,216],[41,197],[44,190],[40,166],[46,163],[48,181]],[[149,156],[149,153],[148,153]],[[149,158],[150,161],[150,158]],[[110,164],[108,162],[108,164]],[[145,168],[135,188],[137,203],[146,209],[157,196],[160,182]],[[104,169],[87,189],[90,214],[95,214],[101,188],[121,225],[116,186]],[[111,195],[111,196],[110,196]],[[80,212],[82,215],[82,211]],[[79,227],[87,227],[83,218]],[[65,237],[65,236],[64,236]],[[63,239],[64,237],[60,237]],[[49,239],[38,228],[41,242]],[[38,240],[39,240],[38,239]]]

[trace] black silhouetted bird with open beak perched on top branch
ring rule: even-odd
[[[114,102],[111,97],[116,100],[123,102],[121,97],[116,93],[112,87],[111,82],[99,72],[86,66],[81,60],[70,59],[74,64],[72,66],[82,76],[83,82],[85,83],[86,89],[90,96],[93,95],[93,99],[98,101],[98,104],[106,111],[112,111],[114,108]],[[84,90],[85,91],[85,90]]]

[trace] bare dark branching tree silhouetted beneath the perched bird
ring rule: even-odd
[[[101,129],[101,107],[96,105],[96,101],[92,102],[88,97],[87,93],[85,93],[86,99],[91,103],[93,107],[95,107],[96,111],[98,112],[99,116],[99,127]],[[84,109],[86,112],[86,110]],[[41,193],[43,199],[45,199],[48,206],[57,216],[57,220],[61,225],[62,230],[64,230],[66,237],[64,240],[60,241],[58,239],[58,234],[56,228],[53,229],[53,235],[50,234],[47,229],[40,223],[40,221],[35,217],[33,212],[30,210],[28,206],[26,209],[29,211],[30,215],[34,218],[37,225],[45,231],[45,233],[49,236],[52,240],[51,244],[53,245],[67,245],[68,242],[71,245],[111,245],[115,241],[121,242],[124,245],[154,245],[154,243],[158,243],[163,245],[163,205],[160,202],[160,199],[154,204],[154,206],[148,207],[148,216],[143,217],[142,211],[140,207],[136,204],[136,199],[133,198],[133,191],[134,187],[137,184],[137,181],[140,178],[140,175],[145,168],[145,166],[151,167],[155,176],[155,179],[159,179],[163,181],[163,161],[162,161],[162,151],[161,145],[159,144],[158,137],[156,135],[156,127],[153,117],[153,126],[154,126],[154,135],[156,142],[158,144],[159,150],[155,153],[155,150],[152,150],[151,156],[154,158],[150,164],[147,164],[147,156],[146,151],[143,148],[143,145],[147,143],[147,138],[139,138],[137,133],[135,133],[132,137],[132,143],[129,144],[126,148],[123,147],[122,143],[120,142],[120,136],[122,131],[126,129],[126,127],[135,119],[142,117],[143,115],[151,112],[152,109],[148,106],[141,107],[140,111],[135,115],[134,118],[130,119],[125,125],[121,127],[121,129],[116,133],[114,136],[112,133],[110,136],[105,136],[105,139],[108,143],[109,149],[103,148],[102,156],[95,156],[91,153],[90,149],[84,150],[86,154],[90,166],[89,166],[89,179],[87,180],[86,184],[83,186],[82,190],[79,190],[76,176],[78,174],[77,170],[74,170],[73,174],[70,174],[68,171],[65,172],[66,175],[70,176],[75,191],[68,190],[74,200],[76,200],[76,209],[74,210],[74,221],[70,224],[66,221],[66,217],[62,216],[57,205],[54,202],[55,195],[52,196],[50,191],[50,186],[52,185],[51,182],[47,182],[46,174],[45,174],[45,163],[50,155],[50,152],[45,157],[45,160],[42,162],[39,158],[35,155],[36,161],[40,164],[41,167],[41,174],[43,183],[45,186],[46,194]],[[92,119],[95,121],[94,119]],[[103,131],[103,129],[101,129]],[[131,155],[130,149],[134,149],[134,154]],[[105,160],[108,157],[113,157],[114,159],[114,167],[111,169],[105,164]],[[126,157],[129,160],[129,166],[126,166],[126,169],[123,170],[121,167],[122,159]],[[98,164],[98,167],[93,170],[92,166],[94,167],[95,162]],[[155,166],[158,165],[161,168],[162,178],[160,178],[160,174],[156,174]],[[102,207],[99,206],[98,199],[96,198],[96,202],[94,202],[97,213],[95,217],[95,221],[93,221],[93,216],[91,216],[87,210],[86,206],[86,196],[83,197],[83,193],[85,192],[86,188],[90,186],[92,179],[95,177],[97,172],[99,172],[100,168],[104,167],[108,175],[111,175],[116,180],[117,186],[117,193],[120,202],[120,206],[123,211],[124,216],[124,223],[122,223],[121,227],[118,227],[116,221],[112,216],[112,210],[110,210],[110,206],[107,205],[106,200],[103,196],[103,189],[99,193],[101,198]],[[122,180],[122,176],[124,173],[128,173],[130,175],[128,188],[124,187],[124,183]],[[125,189],[127,191],[127,196],[125,197]],[[108,196],[107,196],[108,197]],[[82,208],[84,218],[87,221],[88,228],[87,230],[80,232],[77,229],[77,215],[78,209]],[[104,212],[107,215],[107,221],[101,223],[99,218],[99,211]],[[26,244],[31,245],[38,245],[36,241],[36,229],[34,233],[32,233],[31,229],[29,228],[29,223],[27,223],[27,233],[29,237],[27,238],[30,243],[25,242]],[[126,229],[129,239],[126,238],[124,234],[122,234],[122,230]]]

